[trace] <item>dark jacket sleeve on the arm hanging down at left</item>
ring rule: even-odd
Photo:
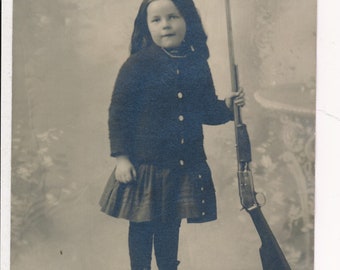
[[[109,138],[113,157],[130,154],[139,83],[135,64],[129,58],[118,73],[109,107]]]

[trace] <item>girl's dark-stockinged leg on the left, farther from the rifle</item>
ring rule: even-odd
[[[130,222],[129,253],[132,270],[151,269],[152,238],[151,222]]]

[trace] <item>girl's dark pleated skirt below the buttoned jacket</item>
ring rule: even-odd
[[[133,222],[187,218],[190,223],[215,220],[216,197],[206,162],[170,169],[152,164],[137,167],[136,181],[119,183],[114,172],[100,199],[108,215]]]

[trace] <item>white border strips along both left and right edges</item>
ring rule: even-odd
[[[340,3],[318,1],[315,269],[339,269]],[[1,270],[10,269],[12,1],[1,1]],[[322,89],[322,91],[321,91]]]

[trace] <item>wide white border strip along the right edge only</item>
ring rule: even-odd
[[[315,269],[340,269],[339,1],[318,1]]]

